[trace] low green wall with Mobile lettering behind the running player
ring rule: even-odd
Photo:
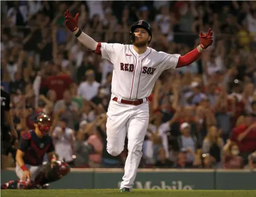
[[[50,184],[50,189],[118,188],[123,170],[73,168],[69,175]],[[1,183],[16,179],[13,169],[1,171]],[[256,190],[256,171],[139,169],[134,188],[173,190]],[[256,196],[256,191],[255,191]]]

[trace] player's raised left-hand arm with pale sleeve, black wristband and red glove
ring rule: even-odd
[[[71,16],[69,13],[69,10],[65,12],[65,25],[69,30],[75,34],[77,39],[85,45],[85,47],[89,50],[95,51],[97,49],[98,43],[92,39],[90,36],[86,35],[84,32],[82,32],[81,29],[77,26],[79,13],[76,14],[75,18]]]

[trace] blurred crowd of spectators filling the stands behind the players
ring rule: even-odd
[[[196,48],[211,27],[201,59],[156,82],[140,167],[256,168],[255,1],[1,1],[1,88],[18,134],[44,112],[72,167],[124,165],[127,147],[118,157],[106,151],[112,65],[64,27],[67,8],[101,42],[129,44],[131,24],[146,20],[150,47],[170,54]],[[14,166],[12,148],[3,167]]]

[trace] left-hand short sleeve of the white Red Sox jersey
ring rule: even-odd
[[[100,52],[103,59],[108,59],[111,63],[117,62],[118,54],[120,50],[124,47],[123,44],[108,44],[108,43],[99,43]]]

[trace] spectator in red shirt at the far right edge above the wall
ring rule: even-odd
[[[240,156],[247,163],[248,155],[256,150],[256,122],[253,122],[252,116],[246,115],[244,125],[232,130],[230,140],[238,144]]]

